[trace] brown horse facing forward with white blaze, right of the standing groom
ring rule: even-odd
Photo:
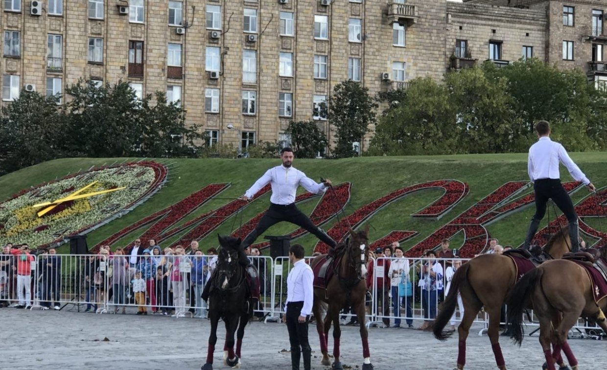
[[[320,338],[320,350],[322,351],[322,365],[329,366],[331,361],[328,355],[327,338],[331,322],[333,323],[333,357],[332,368],[335,370],[344,369],[339,361],[339,339],[341,329],[339,328],[339,311],[347,307],[353,307],[356,317],[361,326],[362,353],[364,364],[362,370],[371,370],[371,356],[369,354],[368,333],[365,326],[365,296],[367,294],[367,283],[365,275],[367,273],[368,260],[368,227],[364,231],[354,232],[350,230],[350,241],[344,245],[342,253],[336,256],[339,260],[334,275],[327,283],[327,289],[314,287],[314,306],[312,312],[316,318],[316,330]],[[320,255],[311,261],[312,269],[322,261],[325,256]],[[324,323],[322,309],[327,306],[327,316]]]

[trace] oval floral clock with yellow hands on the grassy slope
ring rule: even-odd
[[[23,190],[0,203],[0,245],[38,248],[92,231],[149,199],[166,174],[160,163],[123,163]]]

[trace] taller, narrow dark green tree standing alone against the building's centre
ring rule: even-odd
[[[362,145],[368,126],[375,123],[378,104],[370,97],[367,87],[348,80],[334,87],[328,105],[329,121],[336,128],[334,156],[355,156],[358,153],[352,145],[354,142]]]

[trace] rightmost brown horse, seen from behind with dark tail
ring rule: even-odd
[[[607,259],[607,248],[602,248]],[[508,323],[512,325],[512,338],[519,346],[523,341],[523,311],[533,306],[540,321],[540,343],[546,357],[546,368],[555,370],[554,363],[565,352],[569,365],[577,369],[567,334],[579,317],[595,320],[607,332],[603,310],[607,297],[595,302],[592,281],[586,270],[575,262],[560,259],[548,261],[526,273],[512,290],[508,301]],[[550,345],[554,344],[551,353]],[[559,366],[561,366],[559,364]],[[563,366],[561,366],[562,368]]]

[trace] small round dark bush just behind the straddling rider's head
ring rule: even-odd
[[[297,158],[315,158],[327,148],[327,136],[313,120],[291,121],[285,133],[291,135],[291,147]]]

